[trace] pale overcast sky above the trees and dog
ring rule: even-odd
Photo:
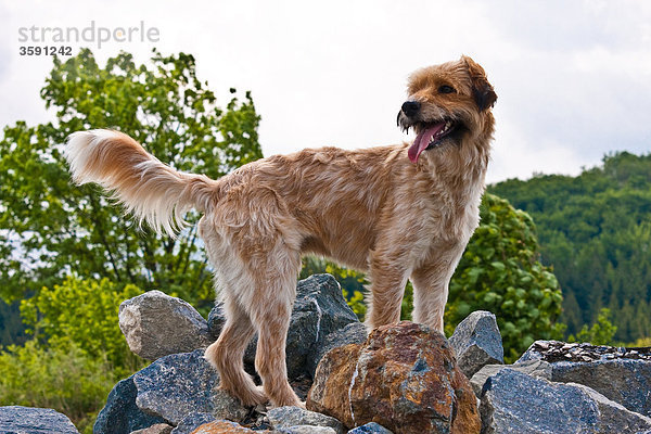
[[[72,43],[101,63],[153,47],[194,54],[222,97],[251,90],[265,155],[413,139],[395,125],[410,72],[472,56],[499,99],[488,180],[576,175],[604,153],[651,150],[651,1],[0,0],[0,126],[53,118],[51,59],[20,28],[155,28],[158,41]]]

